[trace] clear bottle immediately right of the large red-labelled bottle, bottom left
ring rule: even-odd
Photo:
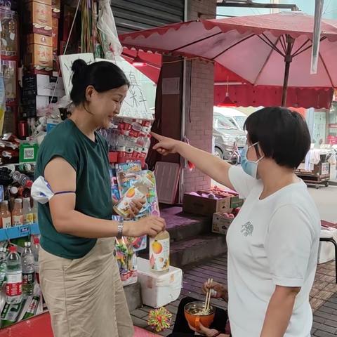
[[[22,253],[22,296],[27,298],[34,292],[35,280],[34,255],[30,242],[25,242],[25,251]]]

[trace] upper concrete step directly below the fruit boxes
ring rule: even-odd
[[[184,213],[178,206],[162,206],[161,216],[166,220],[166,229],[170,233],[171,242],[211,232],[211,217]]]

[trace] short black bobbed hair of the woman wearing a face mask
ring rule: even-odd
[[[265,157],[296,169],[310,150],[310,133],[301,114],[285,107],[265,107],[244,123],[251,144],[259,143]],[[256,151],[258,156],[258,150]]]

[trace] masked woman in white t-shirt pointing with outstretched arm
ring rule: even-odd
[[[320,220],[294,173],[310,149],[308,126],[297,112],[266,107],[251,114],[245,128],[241,168],[155,134],[154,150],[178,152],[246,199],[227,233],[232,336],[310,337]]]

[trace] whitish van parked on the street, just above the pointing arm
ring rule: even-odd
[[[246,133],[240,130],[229,117],[213,114],[214,154],[233,164],[239,163],[239,152],[246,145]]]

